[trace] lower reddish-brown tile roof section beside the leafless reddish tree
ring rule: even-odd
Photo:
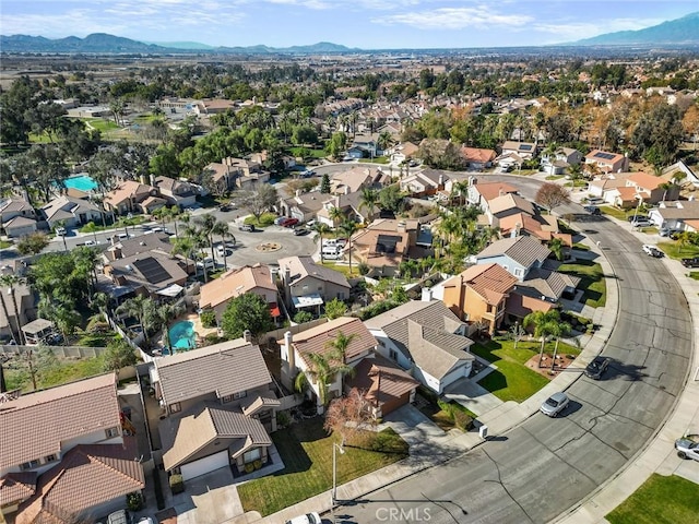
[[[347,388],[364,392],[372,403],[391,402],[419,385],[400,366],[381,355],[363,358],[354,369],[355,376],[347,380]]]

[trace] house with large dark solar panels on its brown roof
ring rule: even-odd
[[[141,294],[156,300],[176,298],[181,296],[190,271],[192,265],[183,258],[151,250],[105,264],[97,287],[118,301]]]

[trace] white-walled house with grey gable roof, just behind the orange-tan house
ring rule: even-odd
[[[522,282],[531,270],[542,267],[549,254],[550,250],[541,241],[519,236],[493,242],[476,254],[475,260],[478,265],[496,263]]]

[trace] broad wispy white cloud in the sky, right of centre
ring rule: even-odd
[[[466,27],[502,28],[522,27],[534,19],[526,14],[498,14],[491,8],[439,8],[375,17],[371,22],[387,25],[410,25],[420,29],[463,29]]]

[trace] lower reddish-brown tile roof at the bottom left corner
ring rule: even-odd
[[[134,437],[123,444],[80,444],[39,476],[36,493],[20,505],[16,524],[63,522],[66,515],[145,487]]]

